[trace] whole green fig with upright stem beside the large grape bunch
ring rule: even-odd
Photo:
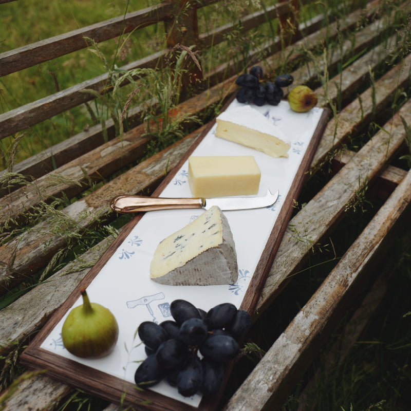
[[[113,351],[119,326],[115,316],[97,303],[90,303],[82,290],[83,304],[74,307],[63,323],[61,337],[68,352],[81,358],[100,358]]]

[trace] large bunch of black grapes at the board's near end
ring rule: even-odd
[[[184,397],[216,396],[225,363],[237,356],[251,325],[250,315],[231,303],[205,312],[185,300],[173,301],[170,311],[174,321],[145,321],[138,328],[147,358],[136,370],[137,386],[148,388],[165,379]]]

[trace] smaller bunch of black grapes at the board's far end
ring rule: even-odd
[[[288,87],[294,81],[291,74],[281,74],[274,80],[268,81],[265,84],[260,82],[263,78],[263,69],[260,66],[251,67],[250,72],[240,74],[235,84],[241,88],[237,92],[237,100],[240,103],[255,104],[262,106],[263,104],[271,104],[276,106],[284,96],[284,87]]]

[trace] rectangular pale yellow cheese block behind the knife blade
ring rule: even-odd
[[[193,197],[257,194],[261,172],[253,156],[191,156],[189,185]]]

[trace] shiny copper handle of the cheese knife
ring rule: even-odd
[[[110,208],[117,213],[137,213],[140,211],[193,209],[204,206],[201,198],[165,198],[121,195],[110,201]]]

